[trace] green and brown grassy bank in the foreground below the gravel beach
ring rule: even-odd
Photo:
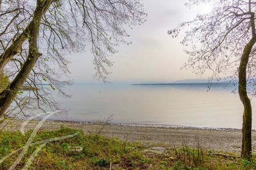
[[[236,157],[213,155],[212,151],[195,148],[168,147],[166,152],[147,152],[150,146],[129,143],[116,138],[105,138],[98,134],[87,135],[82,131],[61,127],[59,130],[39,131],[33,142],[65,136],[79,132],[77,136],[48,143],[32,162],[29,170],[255,170],[256,160],[246,161]],[[0,158],[24,146],[32,131],[23,136],[20,132],[0,132]],[[39,145],[31,146],[16,170],[25,163]],[[81,146],[79,153],[69,146]],[[19,152],[20,153],[20,152]],[[18,157],[15,153],[0,164],[7,170]],[[225,154],[225,153],[223,153]],[[230,153],[229,153],[230,155]],[[235,156],[235,155],[234,155]]]

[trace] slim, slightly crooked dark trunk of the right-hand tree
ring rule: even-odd
[[[250,53],[255,43],[256,36],[253,36],[253,38],[244,48],[238,71],[238,92],[239,97],[244,105],[241,151],[241,157],[244,159],[251,159],[252,157],[252,105],[251,100],[247,95],[246,70]]]

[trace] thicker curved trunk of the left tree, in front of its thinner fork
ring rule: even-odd
[[[53,0],[37,0],[37,7],[34,11],[32,22],[30,23],[28,28],[28,35],[26,35],[26,38],[29,40],[29,54],[20,72],[10,83],[10,85],[0,93],[0,117],[5,113],[13,99],[16,97],[17,93],[19,92],[19,89],[22,87],[22,85],[28,78],[30,72],[32,71],[33,66],[35,65],[39,57],[37,48],[39,26],[41,23],[42,16],[44,15],[44,13],[46,12],[46,10],[52,2]],[[13,54],[11,53],[11,55]]]

